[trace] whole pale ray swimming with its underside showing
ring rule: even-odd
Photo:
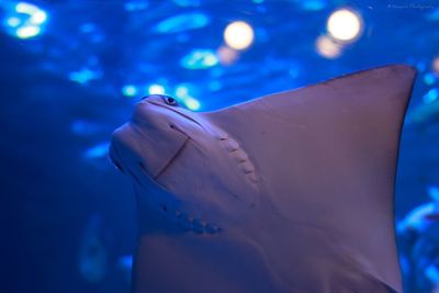
[[[134,182],[133,292],[402,292],[391,65],[213,112],[140,100],[110,147]]]

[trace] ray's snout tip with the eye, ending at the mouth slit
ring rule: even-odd
[[[191,128],[196,127],[178,108],[177,101],[166,95],[149,95],[138,102],[131,122],[113,134],[113,155],[122,157],[122,161],[113,161],[124,165],[119,167],[128,172],[142,167],[144,174],[158,178],[184,148]]]

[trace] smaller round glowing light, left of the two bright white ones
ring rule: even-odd
[[[236,21],[227,25],[224,31],[224,41],[234,49],[248,48],[255,38],[254,29],[244,21]]]

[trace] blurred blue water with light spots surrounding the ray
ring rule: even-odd
[[[142,97],[209,111],[395,63],[418,69],[405,289],[439,292],[439,0],[1,0],[0,292],[130,292],[135,198],[108,145]]]

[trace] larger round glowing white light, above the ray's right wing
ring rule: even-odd
[[[327,30],[336,40],[352,42],[361,34],[362,19],[352,10],[339,9],[330,14],[327,22]]]

